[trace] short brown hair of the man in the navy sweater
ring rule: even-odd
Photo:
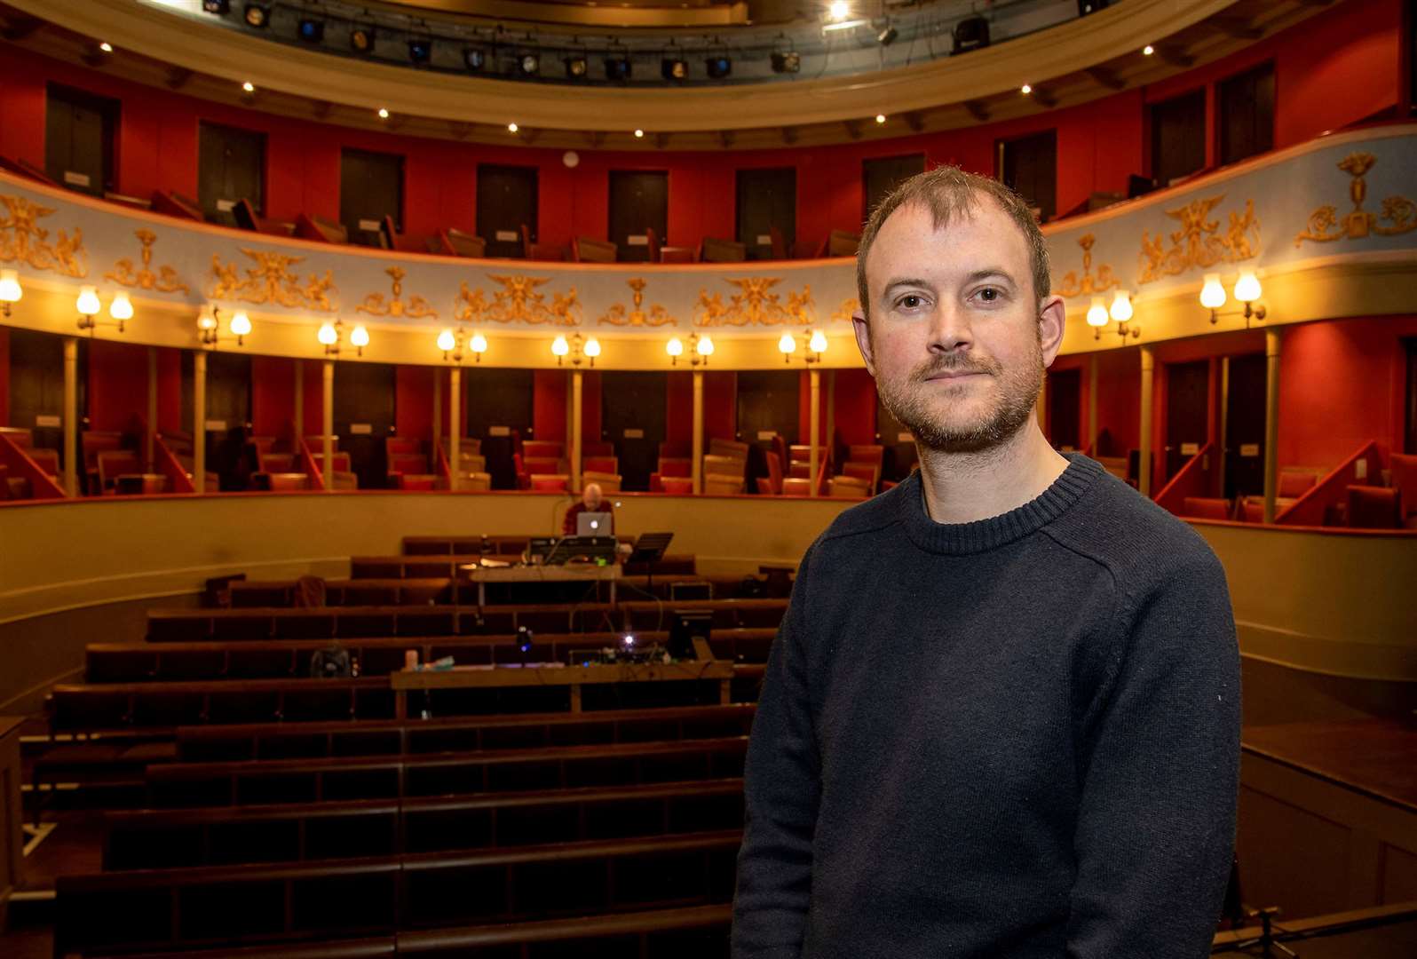
[[[1017,224],[1023,231],[1023,238],[1029,244],[1029,266],[1033,271],[1033,293],[1041,300],[1053,288],[1053,278],[1049,273],[1049,248],[1043,241],[1037,220],[1029,204],[1009,187],[990,177],[981,177],[976,173],[965,173],[959,167],[935,167],[925,173],[917,173],[910,180],[896,187],[884,200],[876,204],[866,229],[862,232],[860,246],[856,249],[856,293],[862,303],[862,316],[870,317],[870,290],[866,286],[866,256],[876,242],[876,234],[881,224],[898,208],[920,204],[930,210],[935,221],[935,229],[949,225],[956,214],[972,214],[979,197],[992,198],[999,208]]]

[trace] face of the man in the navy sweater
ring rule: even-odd
[[[886,408],[921,445],[979,452],[1029,421],[1063,303],[1040,310],[1023,232],[992,200],[938,231],[928,208],[896,210],[866,280],[870,322],[856,322],[856,341]]]

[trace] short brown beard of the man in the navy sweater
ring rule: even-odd
[[[989,381],[971,381],[941,388],[930,377],[941,373],[978,373]],[[981,453],[1013,438],[1033,415],[1043,387],[1043,346],[1034,343],[1030,361],[1005,370],[990,357],[947,353],[911,370],[901,378],[880,377],[881,402],[915,436],[915,442],[937,453]],[[969,391],[990,391],[969,397]],[[962,407],[988,404],[978,414]]]

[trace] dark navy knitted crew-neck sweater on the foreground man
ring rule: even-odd
[[[1204,956],[1238,761],[1230,596],[1185,523],[1084,456],[978,523],[913,476],[802,560],[733,955]]]

